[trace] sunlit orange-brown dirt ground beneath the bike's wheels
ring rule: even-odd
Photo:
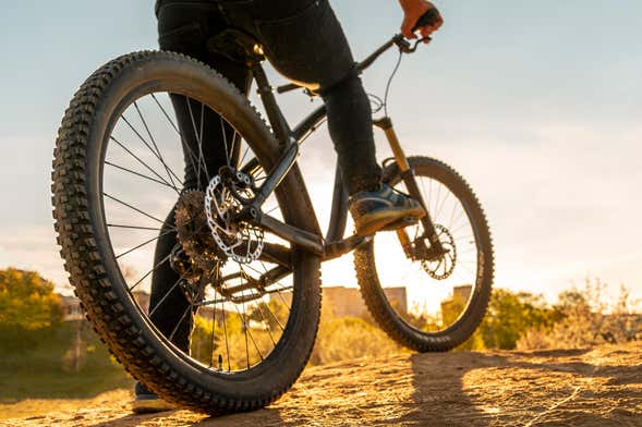
[[[343,362],[305,370],[268,408],[219,418],[134,416],[130,400],[117,390],[0,405],[0,426],[642,426],[642,343]]]

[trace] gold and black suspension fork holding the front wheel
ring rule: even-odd
[[[419,185],[416,184],[416,180],[414,179],[414,171],[410,167],[408,157],[405,157],[405,154],[403,152],[403,148],[401,148],[401,144],[399,143],[399,138],[397,137],[397,133],[392,126],[392,121],[390,118],[385,117],[383,119],[375,120],[374,125],[383,130],[386,134],[388,144],[390,145],[392,154],[395,155],[395,160],[397,161],[399,170],[401,171],[401,180],[405,184],[410,196],[419,202],[426,211],[426,216],[421,219],[421,222],[424,227],[424,235],[428,239],[428,242],[431,242],[431,254],[434,254],[435,256],[443,254],[444,247],[441,246],[441,242],[439,242],[435,225],[433,224],[433,220],[431,219],[431,215],[426,207],[427,205],[423,198]],[[404,251],[409,253],[412,242],[410,241],[405,229],[397,230],[397,235],[399,236],[399,241],[401,242]]]

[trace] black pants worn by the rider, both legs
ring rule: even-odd
[[[251,72],[242,63],[208,48],[207,41],[230,26],[241,28],[258,39],[270,63],[283,75],[298,82],[319,86],[328,113],[328,129],[350,194],[378,185],[380,169],[375,159],[372,112],[361,80],[354,73],[354,60],[337,17],[327,0],[159,0],[156,4],[159,45],[196,58],[216,69],[247,94]],[[187,144],[195,144],[189,106],[184,98],[173,98],[177,119]],[[192,112],[198,112],[192,106]],[[205,135],[222,135],[215,113],[205,118],[214,129]],[[197,121],[198,122],[198,121]],[[228,130],[229,131],[229,130]],[[211,137],[210,137],[211,138]],[[220,139],[220,137],[219,137]],[[222,141],[204,141],[207,169],[216,171],[226,163]],[[185,154],[185,156],[189,156]],[[185,161],[189,164],[189,161]],[[189,167],[185,186],[199,178]],[[330,175],[328,175],[330,179]],[[158,265],[177,244],[173,211],[161,230],[155,254]],[[179,276],[169,263],[153,274],[150,307],[155,325],[166,335],[174,332],[173,342],[186,350],[192,329],[192,313],[178,286],[167,295]],[[181,320],[182,319],[182,320]],[[181,324],[177,325],[181,321]]]

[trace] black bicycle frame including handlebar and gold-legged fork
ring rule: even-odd
[[[392,46],[398,46],[402,52],[414,52],[419,42],[423,40],[417,41],[414,47],[411,47],[410,42],[405,40],[403,36],[396,35],[377,50],[375,50],[363,62],[356,64],[356,69],[360,73],[363,72],[372,63],[374,63],[380,54],[386,52]],[[325,120],[327,113],[325,106],[318,107],[305,119],[303,119],[294,129],[291,129],[276,101],[272,87],[270,86],[265,70],[261,64],[261,62],[264,60],[263,49],[258,45],[255,45],[252,53],[253,56],[250,61],[250,68],[257,84],[257,91],[263,106],[265,107],[268,121],[275,132],[277,139],[280,143],[280,146],[283,148],[283,151],[279,161],[276,163],[272,170],[267,173],[268,178],[258,188],[255,198],[245,209],[239,213],[239,219],[250,220],[261,224],[269,229],[276,235],[322,256],[324,260],[337,258],[353,251],[361,244],[372,240],[372,236],[359,235],[351,235],[347,239],[343,239],[348,220],[348,192],[346,185],[343,184],[341,170],[338,162],[335,170],[335,185],[330,222],[325,239],[308,231],[286,224],[268,215],[263,213],[261,210],[263,203],[275,191],[282,179],[295,164],[302,142],[312,132],[316,131],[316,129]],[[301,88],[301,86],[289,84],[278,87],[277,93],[282,94],[296,88]],[[375,121],[374,124],[377,127],[383,129],[386,133],[390,147],[392,148],[392,152],[395,154],[397,164],[400,168],[402,180],[407,184],[411,196],[425,206],[421,192],[419,191],[416,182],[414,181],[412,170],[408,163],[408,159],[392,127],[392,122],[389,118],[386,117]],[[238,154],[234,155],[238,156]],[[250,168],[252,167],[253,166],[250,166]],[[247,168],[247,166],[244,168]],[[424,230],[426,230],[426,236],[431,242],[431,248],[435,249],[436,254],[440,253],[440,251],[443,251],[441,245],[428,216],[424,217],[422,222]],[[410,244],[410,239],[405,234],[404,230],[398,231],[398,235],[404,247],[405,244]]]

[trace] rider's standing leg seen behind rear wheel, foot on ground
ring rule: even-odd
[[[225,57],[211,53],[206,46],[210,34],[216,34],[226,25],[216,4],[209,1],[161,0],[156,8],[158,16],[159,45],[163,50],[171,50],[198,59],[215,68],[232,82],[239,90],[246,93],[250,72],[242,65]],[[185,190],[207,186],[210,176],[218,173],[218,168],[226,164],[225,136],[231,141],[233,131],[220,121],[211,110],[204,110],[201,126],[201,103],[187,101],[182,96],[171,96],[178,126],[183,139],[185,162]],[[203,131],[201,131],[203,129]],[[223,136],[225,135],[225,136]],[[203,163],[198,167],[199,163]],[[190,349],[190,335],[193,328],[194,312],[191,309],[180,284],[179,273],[168,260],[172,248],[179,243],[174,231],[174,209],[172,209],[161,228],[154,256],[155,267],[152,276],[152,295],[149,312],[152,321],[171,341],[184,352]],[[167,410],[162,401],[156,399],[142,385],[135,388],[135,412],[155,412]]]

